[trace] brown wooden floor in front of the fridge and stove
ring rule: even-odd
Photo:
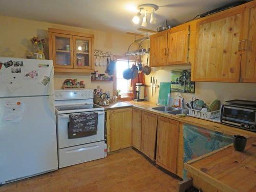
[[[127,148],[104,159],[5,184],[0,191],[176,191],[178,182]]]

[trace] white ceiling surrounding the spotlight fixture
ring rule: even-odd
[[[167,18],[170,25],[179,25],[198,14],[237,0],[1,0],[0,15],[32,19],[100,31],[136,32],[140,25],[132,23],[136,6],[157,4],[156,30]],[[142,16],[141,16],[142,19]]]

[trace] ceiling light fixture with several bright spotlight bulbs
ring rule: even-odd
[[[145,15],[142,19],[142,27],[146,27],[147,26],[147,13],[151,13],[151,18],[150,18],[150,24],[156,24],[157,23],[157,19],[156,19],[156,13],[155,11],[158,10],[158,6],[155,4],[142,4],[139,5],[137,7],[137,9],[139,9],[140,11],[133,17],[133,23],[135,24],[139,24],[140,22],[140,16],[141,16],[141,12],[144,11]]]

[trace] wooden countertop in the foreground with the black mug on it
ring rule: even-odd
[[[256,137],[251,137],[244,152],[235,151],[230,144],[188,161],[184,167],[197,181],[203,180],[220,191],[256,191],[255,144]]]

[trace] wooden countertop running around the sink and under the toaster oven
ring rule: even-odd
[[[153,102],[148,102],[148,101],[141,101],[141,102],[125,101],[125,102],[132,104],[133,108],[140,109],[140,110],[146,111],[146,112],[150,112],[150,113],[153,113],[156,115],[160,115],[162,117],[166,117],[169,119],[177,120],[177,121],[180,121],[183,123],[193,124],[195,126],[203,127],[208,130],[218,131],[218,132],[221,132],[221,133],[224,133],[227,135],[239,134],[239,135],[243,135],[243,136],[255,136],[256,137],[256,133],[254,133],[254,132],[238,129],[233,126],[228,126],[228,125],[224,125],[221,123],[207,121],[204,119],[199,119],[199,118],[189,117],[189,116],[177,117],[176,115],[153,110],[152,108],[154,108],[155,106],[158,106]]]

